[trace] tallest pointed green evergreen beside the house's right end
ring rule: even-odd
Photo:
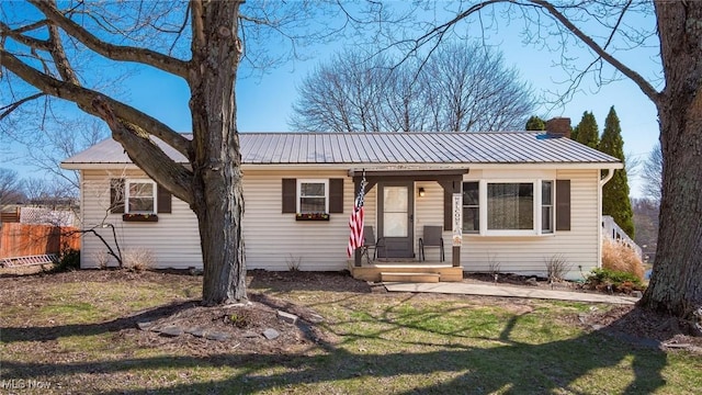
[[[604,132],[599,143],[598,149],[611,155],[622,162],[624,160],[624,140],[622,139],[622,128],[619,125],[619,117],[614,106],[610,109],[604,121]],[[634,214],[632,203],[629,199],[629,180],[626,178],[626,167],[614,170],[614,177],[602,188],[602,215],[611,215],[614,222],[630,237],[634,237]]]

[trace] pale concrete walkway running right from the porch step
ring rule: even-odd
[[[632,305],[638,297],[604,295],[598,293],[552,291],[526,286],[509,286],[492,284],[469,284],[460,282],[442,283],[385,283],[389,292],[428,292],[462,295],[503,296],[503,297],[532,297],[543,300],[558,300],[570,302],[593,302]]]

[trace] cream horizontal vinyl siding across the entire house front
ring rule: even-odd
[[[540,274],[545,272],[544,260],[562,255],[570,264],[569,278],[579,278],[598,266],[600,216],[598,213],[599,170],[479,170],[472,169],[464,181],[513,179],[523,173],[524,179],[570,180],[571,227],[568,232],[555,232],[542,236],[478,236],[464,234],[461,246],[461,263],[465,271],[488,271],[489,262],[499,262],[505,273]],[[123,251],[135,248],[149,250],[157,268],[202,268],[197,222],[189,205],[173,196],[172,213],[159,214],[156,223],[123,222],[121,214],[106,214],[110,205],[110,179],[145,179],[140,171],[82,171],[83,227],[95,228],[113,245],[110,227],[114,225]],[[295,214],[281,213],[282,179],[343,179],[343,213],[330,214],[329,221],[295,221]],[[424,196],[418,198],[419,188]],[[343,270],[349,259],[346,250],[349,241],[349,215],[353,205],[352,178],[343,170],[336,171],[280,171],[248,168],[244,178],[244,238],[248,269],[286,271],[288,264],[299,261],[299,269],[307,271]],[[365,196],[365,225],[374,226],[377,234],[377,185]],[[434,181],[415,183],[415,253],[424,225],[443,224],[443,189]],[[446,262],[451,262],[452,229],[444,229]],[[94,268],[97,256],[104,246],[86,234],[81,266]],[[114,246],[113,246],[114,248]],[[429,261],[438,260],[435,249],[427,251]],[[112,261],[111,264],[115,262]]]

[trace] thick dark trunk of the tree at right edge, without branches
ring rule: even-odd
[[[702,4],[657,1],[666,86],[658,248],[639,305],[690,317],[702,307]]]

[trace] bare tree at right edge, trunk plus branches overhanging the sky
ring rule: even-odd
[[[656,105],[664,159],[660,228],[656,264],[638,305],[691,318],[702,308],[702,2],[491,0],[454,7],[443,22],[432,21],[416,40],[401,43],[417,53],[452,34],[465,35],[456,31],[471,21],[480,31],[485,21],[522,19],[526,40],[542,48],[559,45],[565,71],[571,72],[568,92],[584,78],[608,83],[624,76]],[[647,21],[655,26],[646,29]],[[558,40],[551,42],[553,36]],[[649,44],[659,45],[663,78],[624,60],[631,59],[627,50],[647,50]],[[587,48],[591,59],[578,66],[566,54],[570,45]]]

